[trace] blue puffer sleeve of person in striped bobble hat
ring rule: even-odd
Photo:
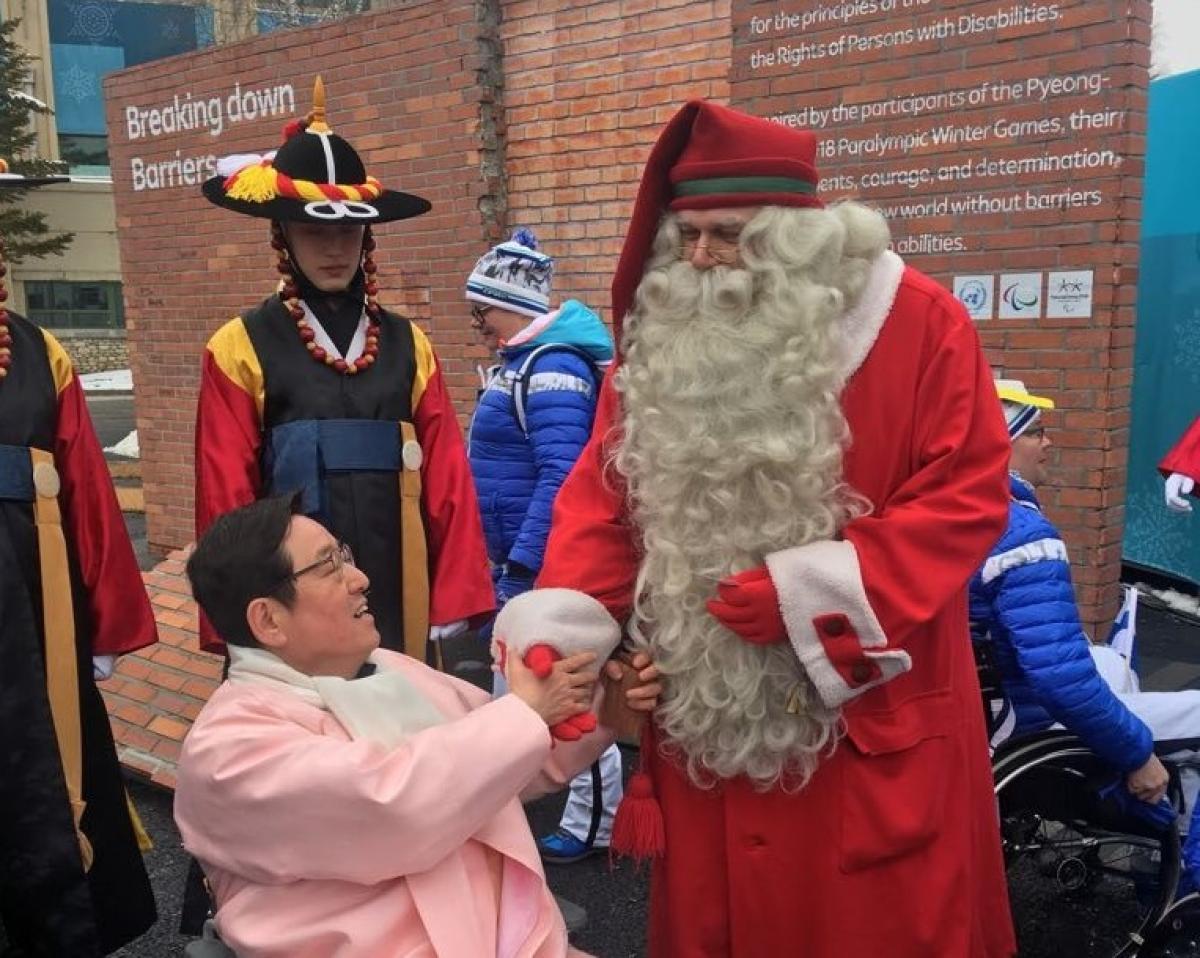
[[[592,435],[596,383],[588,364],[570,353],[550,353],[529,370],[526,418],[536,483],[509,561],[538,571],[550,535],[554,497]]]

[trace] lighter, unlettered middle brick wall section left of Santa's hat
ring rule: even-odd
[[[508,222],[532,226],[556,257],[556,295],[607,318],[659,130],[686,100],[728,100],[728,0],[502,6]]]

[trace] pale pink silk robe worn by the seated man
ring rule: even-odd
[[[262,685],[227,682],[197,718],[175,820],[221,936],[239,958],[575,953],[517,796],[562,788],[611,736],[551,750],[515,695],[383,654],[446,718],[392,750]]]

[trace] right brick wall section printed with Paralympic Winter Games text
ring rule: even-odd
[[[978,327],[997,371],[1058,403],[1043,502],[1100,637],[1121,562],[1150,22],[1150,0],[734,0],[732,11],[733,102],[818,126],[823,192],[890,210],[908,262],[947,286],[997,277],[997,318]],[[950,142],[935,142],[950,127]],[[1069,170],[977,166],[1076,151],[1088,158]],[[882,181],[896,170],[908,182]],[[964,202],[978,205],[950,205]],[[1091,315],[1046,318],[1049,274],[1075,270],[1093,274]],[[1042,304],[998,318],[1000,277],[1022,273],[1038,277]]]

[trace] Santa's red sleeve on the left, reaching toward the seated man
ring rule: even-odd
[[[607,463],[620,419],[612,377],[610,371],[600,389],[592,438],[554,498],[538,586],[586,592],[623,622],[634,607],[640,557],[625,514],[625,484]]]

